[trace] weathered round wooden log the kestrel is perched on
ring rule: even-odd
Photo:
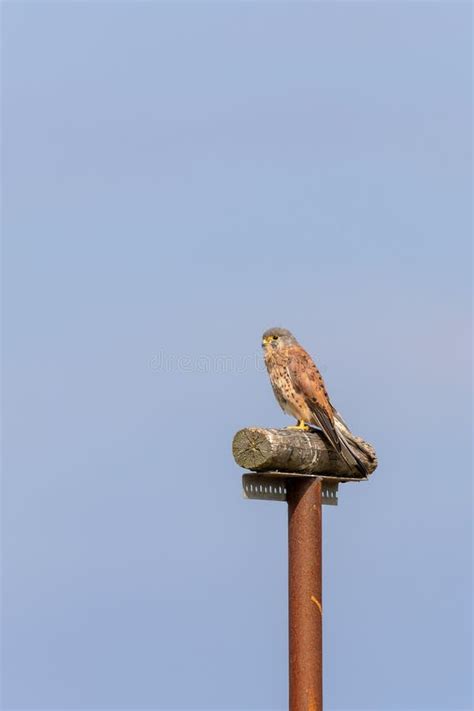
[[[360,437],[354,437],[360,447],[357,455],[369,474],[377,467],[374,448]],[[301,474],[360,479],[357,471],[349,469],[345,461],[316,431],[264,429],[247,427],[239,430],[232,443],[236,463],[256,472],[280,471]]]

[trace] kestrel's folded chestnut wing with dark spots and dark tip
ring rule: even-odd
[[[333,408],[321,373],[301,346],[288,349],[288,373],[295,391],[301,394],[313,415],[312,424],[320,427],[334,449],[341,451],[341,440],[334,426]]]

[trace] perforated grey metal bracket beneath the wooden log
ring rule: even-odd
[[[306,474],[295,474],[294,472],[255,472],[242,476],[242,487],[246,499],[262,499],[264,501],[286,501],[286,483],[289,479],[306,477]],[[317,476],[309,475],[311,479]],[[321,503],[327,506],[337,506],[337,491],[339,482],[322,478],[322,499]]]

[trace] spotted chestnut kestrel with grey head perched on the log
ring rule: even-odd
[[[290,429],[309,430],[306,423],[316,425],[350,469],[367,476],[365,465],[353,451],[358,444],[332,406],[311,356],[285,328],[265,331],[262,346],[275,397],[284,412],[297,420]]]

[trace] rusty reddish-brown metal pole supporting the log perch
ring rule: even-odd
[[[322,711],[321,479],[288,484],[289,709]]]

